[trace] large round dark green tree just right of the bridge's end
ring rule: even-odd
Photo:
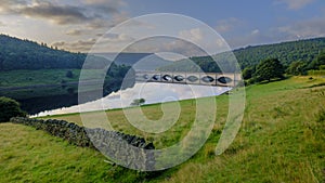
[[[258,81],[268,80],[274,78],[284,78],[284,67],[277,58],[269,58],[262,61],[257,66],[256,77]]]

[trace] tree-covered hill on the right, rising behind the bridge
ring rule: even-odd
[[[257,65],[260,61],[266,58],[278,58],[282,64],[288,66],[294,61],[302,61],[311,64],[317,55],[325,51],[325,38],[314,38],[308,40],[289,41],[265,45],[246,47],[234,50],[240,68]],[[220,53],[213,55],[221,64],[231,65],[233,61],[227,61],[230,53]],[[191,60],[181,60],[171,65],[160,67],[165,71],[204,71],[218,73],[219,66],[212,61],[211,56],[191,57]],[[234,71],[231,66],[225,66],[229,70]]]

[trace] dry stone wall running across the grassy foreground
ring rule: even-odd
[[[129,168],[148,170],[155,166],[154,153],[150,151],[155,146],[153,143],[146,143],[143,138],[104,129],[88,129],[56,119],[15,117],[11,118],[11,122],[44,130],[78,146],[95,147],[110,159]]]

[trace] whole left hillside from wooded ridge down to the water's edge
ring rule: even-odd
[[[104,96],[134,84],[134,81],[129,79],[121,86],[126,74],[133,71],[130,66],[117,65],[102,56],[93,55],[88,57],[90,62],[87,63],[90,64],[83,65],[86,57],[84,53],[72,53],[48,47],[46,43],[0,35],[0,96],[17,100],[29,114],[76,105],[76,83],[80,69],[87,68],[90,70],[88,73],[93,71],[96,76],[96,70],[107,67],[109,63],[110,67],[103,84]],[[96,79],[92,75],[90,77],[90,80]],[[23,84],[24,80],[28,86]],[[48,87],[38,87],[39,84]],[[16,90],[15,87],[23,88]],[[93,92],[91,90],[93,89],[90,88],[87,92]]]

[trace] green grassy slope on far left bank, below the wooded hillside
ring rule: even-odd
[[[73,73],[67,77],[67,71]],[[15,100],[77,93],[81,69],[10,70],[0,73],[0,95]],[[87,80],[96,79],[100,70],[83,70]]]

